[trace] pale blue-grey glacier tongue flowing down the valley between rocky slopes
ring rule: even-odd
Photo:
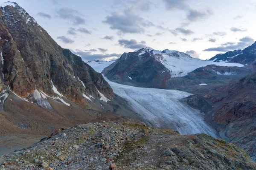
[[[204,122],[204,115],[179,101],[191,94],[183,91],[137,88],[105,80],[114,93],[130,102],[144,121],[153,127],[177,130],[180,134],[206,133],[217,137],[215,130]]]

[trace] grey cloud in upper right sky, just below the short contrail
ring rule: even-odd
[[[207,18],[210,15],[212,15],[212,11],[209,9],[207,11],[196,11],[194,9],[190,9],[188,14],[186,15],[186,19],[190,22],[195,22]]]

